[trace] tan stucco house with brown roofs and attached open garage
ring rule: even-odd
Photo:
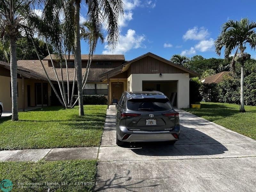
[[[61,80],[60,60],[57,60],[55,55],[51,56]],[[81,57],[84,74],[88,55]],[[42,62],[56,90],[59,90],[50,56],[45,57]],[[47,106],[57,101],[39,60],[18,60],[17,64],[18,108]],[[62,62],[62,66],[63,81],[67,88],[65,62]],[[74,57],[71,55],[68,62],[71,87],[74,72]],[[156,90],[166,94],[176,107],[186,108],[189,106],[189,78],[195,76],[199,74],[150,52],[130,61],[126,61],[124,55],[93,55],[88,84],[83,94],[105,95],[108,104],[111,104],[112,99],[119,100],[124,91]],[[11,110],[10,65],[3,61],[0,62],[0,82],[0,100],[4,103],[5,110]]]

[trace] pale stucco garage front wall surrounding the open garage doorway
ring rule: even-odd
[[[159,74],[131,74],[130,91],[142,91],[142,81],[177,81],[177,107],[189,107],[189,74],[188,73],[164,73],[162,77]]]

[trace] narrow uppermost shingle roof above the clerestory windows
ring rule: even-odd
[[[56,55],[55,54],[51,54],[52,59],[56,60]],[[68,55],[67,55],[68,58]],[[81,55],[82,60],[88,60],[89,55]],[[74,55],[70,55],[70,60],[74,60]],[[93,60],[124,60],[124,55],[93,55],[92,56]],[[51,60],[50,56],[46,56],[43,60]]]

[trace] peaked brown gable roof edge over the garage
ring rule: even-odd
[[[160,57],[158,55],[155,55],[155,54],[153,54],[151,52],[148,52],[148,53],[146,53],[144,55],[141,55],[140,57],[137,57],[137,58],[135,58],[133,60],[130,60],[130,61],[124,63],[122,66],[118,66],[118,67],[116,67],[116,68],[114,68],[114,69],[112,69],[112,70],[110,70],[110,71],[108,71],[108,72],[106,72],[104,74],[101,74],[100,75],[100,79],[101,80],[105,80],[105,79],[107,79],[107,76],[108,77],[112,77],[112,76],[115,76],[117,74],[120,74],[120,73],[128,70],[128,68],[130,67],[131,63],[133,63],[133,62],[135,62],[137,60],[140,60],[140,59],[142,59],[144,57],[147,57],[147,56],[153,57],[153,58],[155,58],[157,60],[160,60],[160,61],[162,61],[164,63],[167,63],[167,64],[169,64],[169,65],[171,65],[173,67],[179,68],[179,69],[189,73],[190,77],[196,77],[196,76],[200,75],[200,74],[196,73],[195,71],[189,70],[189,69],[187,69],[185,67],[182,67],[180,65],[177,65],[177,64],[173,63],[172,61],[166,60],[166,59],[164,59],[164,58],[162,58],[162,57]]]

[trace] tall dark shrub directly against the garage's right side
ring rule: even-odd
[[[201,84],[202,83],[200,82],[199,77],[189,79],[189,105],[202,100],[199,92]]]

